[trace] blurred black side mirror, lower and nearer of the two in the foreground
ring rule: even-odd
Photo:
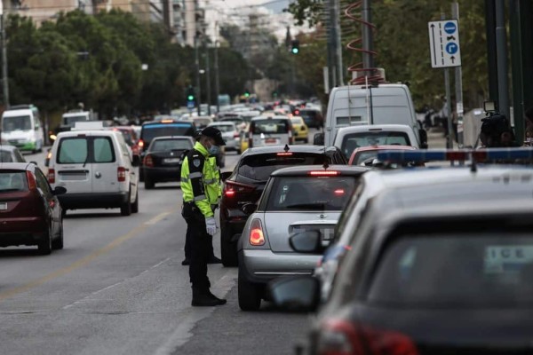
[[[320,304],[320,282],[313,276],[278,278],[267,284],[274,304],[289,312],[314,312]]]

